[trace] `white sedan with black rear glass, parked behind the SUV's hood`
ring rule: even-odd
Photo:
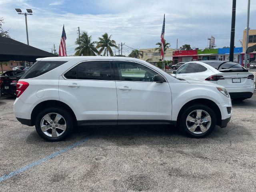
[[[234,100],[251,98],[254,92],[254,75],[234,62],[188,62],[172,75],[185,80],[202,80],[222,85]]]

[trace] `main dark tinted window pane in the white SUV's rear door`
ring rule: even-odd
[[[78,64],[77,79],[114,80],[110,61],[89,61]]]

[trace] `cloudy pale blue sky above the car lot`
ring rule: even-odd
[[[52,51],[60,44],[65,25],[68,55],[74,54],[74,42],[80,32],[87,31],[92,40],[107,32],[116,43],[131,48],[153,48],[160,41],[163,16],[166,15],[165,39],[172,48],[183,44],[203,49],[207,38],[215,36],[217,48],[229,46],[232,0],[0,0],[0,17],[11,38],[26,43],[24,15],[14,8],[33,10],[28,16],[31,46]],[[247,0],[236,3],[235,46],[240,46],[246,27]],[[256,29],[256,1],[251,1],[250,28]],[[117,50],[116,50],[117,51]],[[124,46],[124,53],[130,48]]]

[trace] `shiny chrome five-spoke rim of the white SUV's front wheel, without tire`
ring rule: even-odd
[[[186,126],[194,134],[206,132],[210,128],[211,123],[212,119],[205,110],[194,110],[186,118]]]

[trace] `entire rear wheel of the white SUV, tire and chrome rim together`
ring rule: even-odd
[[[35,126],[44,140],[60,141],[70,135],[74,122],[68,110],[53,107],[38,114]]]

